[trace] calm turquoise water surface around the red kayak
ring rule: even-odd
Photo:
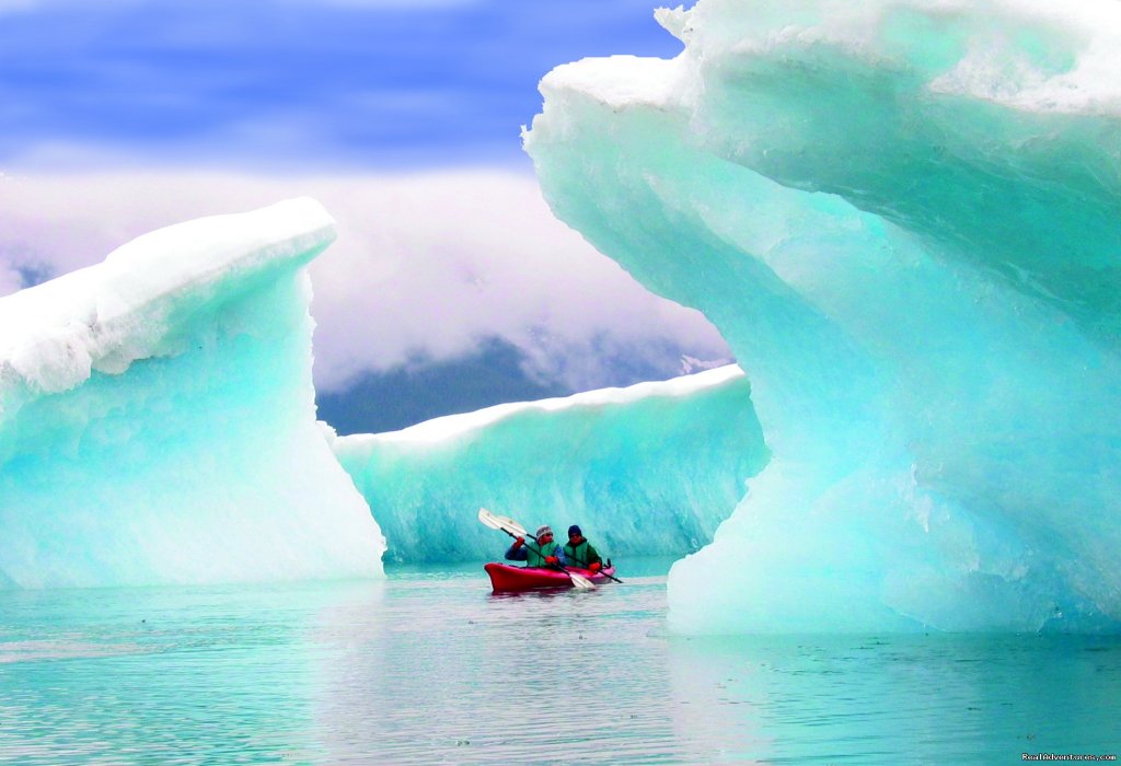
[[[509,597],[380,583],[0,594],[0,762],[1018,763],[1121,753],[1121,641],[685,639],[668,561]]]

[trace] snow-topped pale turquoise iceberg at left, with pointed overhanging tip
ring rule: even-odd
[[[0,587],[379,576],[315,420],[302,198],[0,299]]]

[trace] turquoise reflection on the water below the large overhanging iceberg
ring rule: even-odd
[[[1121,735],[1117,638],[676,638],[668,661],[705,711],[678,726],[722,730],[705,736],[735,758],[999,763],[1115,754]]]

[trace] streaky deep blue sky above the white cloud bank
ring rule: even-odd
[[[114,164],[525,164],[550,68],[680,49],[655,4],[0,0],[0,162],[49,143]]]

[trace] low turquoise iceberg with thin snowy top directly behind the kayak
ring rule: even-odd
[[[769,455],[735,365],[332,439],[397,562],[501,558],[484,506],[532,530],[578,523],[604,555],[712,541]],[[563,536],[563,534],[562,534]]]

